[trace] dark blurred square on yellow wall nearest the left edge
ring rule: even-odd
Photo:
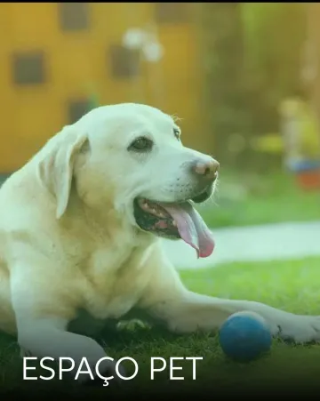
[[[45,81],[44,52],[15,52],[12,54],[14,84],[43,84]]]

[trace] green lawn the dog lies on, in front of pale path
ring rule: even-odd
[[[181,277],[188,288],[199,293],[262,301],[300,314],[320,314],[320,258],[233,263],[217,269],[182,271]],[[191,380],[188,361],[181,363],[184,366],[182,371],[175,372],[185,377],[184,389],[204,387],[208,382],[233,388],[240,383],[243,387],[246,383],[250,389],[254,383],[314,381],[320,373],[320,345],[293,346],[275,340],[271,352],[265,357],[250,364],[237,364],[223,355],[217,335],[195,333],[177,336],[133,325],[133,328],[126,327],[116,335],[108,333],[104,341],[112,357],[130,356],[140,364],[138,376],[126,382],[126,389],[163,389],[168,385],[168,370],[156,373],[155,381],[150,381],[150,357],[164,357],[168,363],[170,357],[204,357],[197,363],[196,381]],[[0,386],[4,387],[19,381],[22,365],[19,349],[11,338],[2,338],[1,349]],[[131,366],[127,368],[130,373]],[[181,381],[177,382],[181,384]],[[48,381],[43,381],[43,386],[48,386]]]

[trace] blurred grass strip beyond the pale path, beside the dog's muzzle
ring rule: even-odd
[[[320,220],[320,189],[303,191],[290,174],[220,176],[213,202],[198,208],[211,228]],[[239,188],[245,195],[236,196]]]

